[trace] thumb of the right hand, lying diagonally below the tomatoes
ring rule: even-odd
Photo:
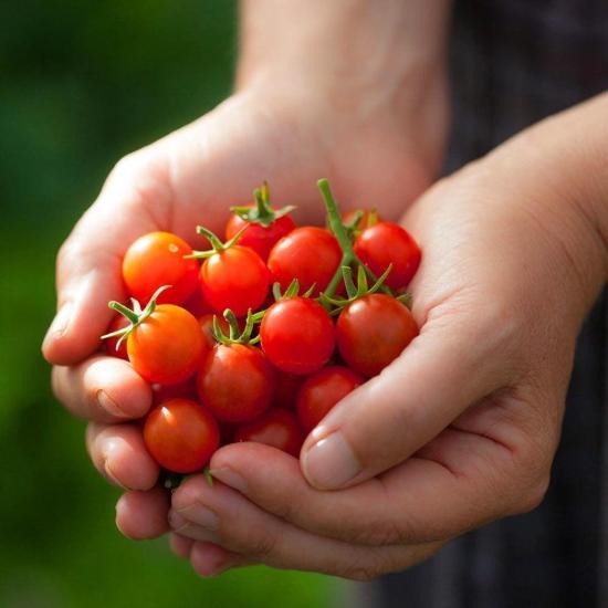
[[[502,336],[491,339],[485,329],[491,323],[453,312],[429,318],[397,359],[345,397],[308,436],[301,452],[308,483],[332,490],[373,478],[492,392],[502,366],[493,364],[491,353]]]

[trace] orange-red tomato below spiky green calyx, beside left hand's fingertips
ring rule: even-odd
[[[177,385],[200,367],[208,347],[198,321],[185,308],[160,304],[127,338],[135,370],[148,382]]]

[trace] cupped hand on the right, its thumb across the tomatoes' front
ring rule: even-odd
[[[407,212],[423,251],[420,336],[332,410],[301,463],[219,450],[221,483],[195,476],[172,496],[176,553],[207,575],[264,563],[369,579],[542,501],[576,337],[606,276],[578,184],[545,154],[567,127],[535,127]]]

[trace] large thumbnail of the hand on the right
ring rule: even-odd
[[[304,453],[302,470],[311,485],[331,490],[349,482],[361,467],[342,433],[334,432]]]

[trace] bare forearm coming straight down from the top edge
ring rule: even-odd
[[[363,128],[416,120],[420,153],[442,153],[450,4],[243,0],[237,87],[331,108],[334,119],[346,115]]]

